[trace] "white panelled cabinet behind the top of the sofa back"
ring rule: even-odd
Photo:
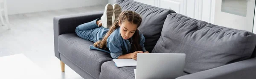
[[[215,0],[134,0],[140,3],[168,8],[208,23],[214,22]]]

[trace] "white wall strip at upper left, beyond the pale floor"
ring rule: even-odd
[[[7,0],[8,14],[105,5],[108,0]]]

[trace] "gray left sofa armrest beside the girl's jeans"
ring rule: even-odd
[[[54,34],[54,52],[58,59],[60,54],[58,52],[58,36],[61,34],[75,33],[75,29],[78,25],[90,22],[97,18],[100,18],[103,11],[63,15],[53,18],[53,34]]]

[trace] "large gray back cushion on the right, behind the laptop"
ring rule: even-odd
[[[185,71],[196,73],[232,62],[249,59],[256,35],[195,20],[182,14],[169,14],[162,35],[152,52],[185,53]]]

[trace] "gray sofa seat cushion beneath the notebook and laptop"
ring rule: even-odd
[[[114,61],[104,62],[102,64],[99,78],[100,79],[135,79],[134,69],[136,69],[136,66],[116,67]],[[187,75],[187,73],[183,73],[183,75]]]

